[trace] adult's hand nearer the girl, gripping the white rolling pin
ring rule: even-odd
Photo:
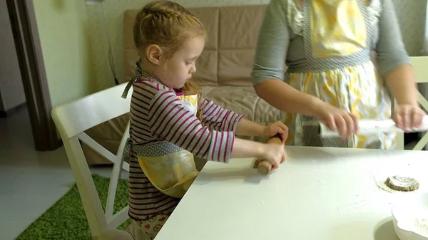
[[[328,103],[322,102],[315,107],[315,118],[325,122],[331,130],[337,130],[342,138],[350,137],[353,133],[358,132],[357,115],[348,113]]]

